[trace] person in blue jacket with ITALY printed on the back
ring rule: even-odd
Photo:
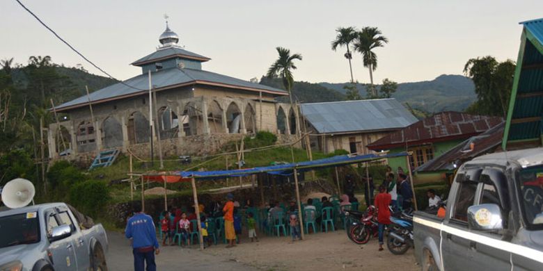
[[[132,239],[132,253],[134,254],[134,270],[143,271],[147,265],[147,271],[157,270],[155,254],[160,253],[155,231],[155,223],[150,215],[145,215],[141,203],[133,205],[134,216],[128,219],[125,236]]]

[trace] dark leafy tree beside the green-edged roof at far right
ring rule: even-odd
[[[499,63],[493,56],[471,58],[464,65],[464,74],[475,84],[478,100],[466,109],[469,113],[505,117],[511,96],[515,63]]]

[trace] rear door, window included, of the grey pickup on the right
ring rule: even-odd
[[[442,228],[443,265],[445,270],[475,270],[471,241],[464,238],[463,232],[468,230],[468,207],[475,202],[475,192],[478,183],[475,181],[460,181],[450,217],[445,220],[446,227]]]

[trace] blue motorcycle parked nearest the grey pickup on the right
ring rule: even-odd
[[[407,252],[413,247],[413,215],[411,213],[400,213],[391,216],[391,227],[386,239],[386,247],[395,255]]]

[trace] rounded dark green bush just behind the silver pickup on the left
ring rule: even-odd
[[[70,188],[68,198],[81,213],[96,217],[109,202],[109,187],[103,181],[83,181]]]

